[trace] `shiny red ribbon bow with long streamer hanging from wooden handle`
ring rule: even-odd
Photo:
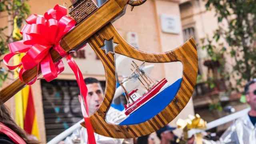
[[[57,4],[53,9],[48,10],[44,16],[33,14],[26,19],[26,22],[27,24],[23,26],[20,32],[23,36],[23,40],[12,42],[8,45],[10,53],[4,56],[4,64],[6,64],[10,70],[20,68],[19,78],[21,81],[24,81],[22,78],[24,72],[36,66],[36,77],[26,83],[30,85],[36,82],[39,68],[41,68],[42,75],[48,82],[55,79],[58,74],[64,70],[62,60],[55,63],[53,62],[50,56],[51,48],[56,50],[62,57],[66,57],[68,65],[76,76],[80,88],[80,95],[84,100],[84,104],[81,102],[81,107],[88,133],[88,143],[96,144],[94,130],[89,119],[89,109],[86,100],[87,87],[82,72],[70,54],[67,54],[60,46],[61,38],[74,28],[76,21],[70,16],[67,16],[65,7]],[[25,53],[20,64],[15,66],[8,65],[10,59],[20,53]]]

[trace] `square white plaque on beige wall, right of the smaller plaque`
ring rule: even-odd
[[[180,33],[180,19],[178,16],[161,14],[161,28],[162,32],[179,34]]]

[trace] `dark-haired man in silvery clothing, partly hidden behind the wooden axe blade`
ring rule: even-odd
[[[89,115],[94,114],[96,110],[99,108],[100,104],[103,101],[103,90],[100,86],[100,82],[96,78],[86,78],[84,79],[86,82],[86,86],[88,88],[87,102],[89,107]],[[109,114],[109,115],[108,115]],[[111,108],[108,110],[106,119],[110,123],[119,123],[122,121],[125,116],[122,112]],[[99,134],[95,134],[95,140],[97,144],[132,144],[132,139],[116,139],[116,138],[108,138],[105,136],[101,136]],[[65,141],[61,142],[61,144],[87,144],[87,131],[85,128],[79,128],[75,130],[73,134],[65,139]]]

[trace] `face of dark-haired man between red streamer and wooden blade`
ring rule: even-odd
[[[94,114],[103,101],[103,91],[99,83],[86,84],[88,88],[87,102],[89,115]]]

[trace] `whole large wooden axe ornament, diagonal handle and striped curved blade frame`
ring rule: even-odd
[[[127,4],[137,6],[143,4],[146,0],[108,0],[100,8],[97,8],[83,19],[79,17],[80,23],[71,30],[60,42],[62,48],[69,52],[76,50],[80,45],[88,42],[97,56],[102,61],[106,74],[105,97],[100,108],[90,116],[94,131],[100,135],[113,138],[135,138],[150,134],[170,123],[186,106],[192,96],[198,73],[198,56],[196,44],[193,38],[190,38],[182,46],[164,53],[148,53],[130,46],[118,34],[112,21],[124,14]],[[79,4],[78,4],[79,5]],[[117,46],[113,52],[105,52],[101,47],[104,46],[104,40],[113,40]],[[54,62],[61,56],[54,50],[50,51]],[[173,96],[165,94],[170,102],[153,114],[152,118],[144,120],[138,124],[116,125],[106,122],[106,112],[110,107],[114,92],[116,89],[116,68],[114,54],[121,54],[136,60],[164,63],[164,62],[182,62],[183,74],[178,83],[178,88]],[[26,71],[23,76],[25,82],[29,82],[36,76],[36,68]],[[11,98],[16,92],[25,86],[24,82],[16,79],[10,86],[0,91],[0,99],[4,102]],[[169,96],[169,97],[168,97]],[[82,124],[84,126],[84,124]]]

